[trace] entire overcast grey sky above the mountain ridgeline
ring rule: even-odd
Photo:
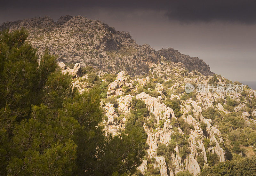
[[[45,0],[1,2],[0,23],[49,15],[83,15],[128,31],[138,44],[172,47],[203,59],[216,74],[256,89],[256,1]]]

